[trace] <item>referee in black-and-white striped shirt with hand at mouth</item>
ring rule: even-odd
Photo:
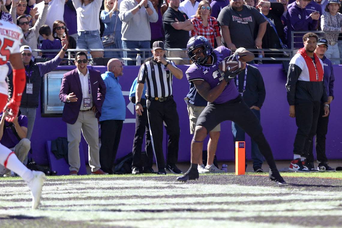
[[[182,79],[183,72],[175,66],[173,61],[168,61],[163,57],[165,49],[162,41],[153,43],[152,54],[153,58],[140,68],[135,93],[135,110],[138,115],[142,115],[143,107],[140,99],[146,80],[147,117],[158,174],[166,174],[166,171],[180,174],[182,171],[176,166],[180,128],[176,103],[172,96],[172,76]],[[163,122],[169,135],[166,165],[162,146]]]

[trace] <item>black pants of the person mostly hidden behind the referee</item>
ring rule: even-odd
[[[147,119],[147,108],[143,108],[144,111],[142,115],[139,116],[135,114],[135,134],[133,140],[133,162],[132,170],[134,167],[138,168],[140,171],[152,168],[153,165],[153,149],[151,144],[151,136],[149,133],[148,119]],[[146,133],[145,133],[146,132]],[[141,160],[141,148],[143,144],[143,137],[145,134],[145,151],[147,155],[147,164],[142,164]],[[144,167],[143,167],[144,166]]]

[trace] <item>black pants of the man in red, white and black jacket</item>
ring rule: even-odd
[[[293,153],[308,157],[310,144],[316,133],[320,102],[304,102],[294,105],[297,134],[294,138]]]

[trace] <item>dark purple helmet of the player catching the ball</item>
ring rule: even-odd
[[[204,58],[199,57],[197,60],[194,58],[196,55],[193,54],[193,51],[196,48],[203,47]],[[209,40],[203,36],[194,36],[189,39],[188,44],[186,45],[186,50],[189,58],[196,64],[205,64],[208,61],[208,58],[212,52],[211,43]],[[199,52],[201,53],[201,52]],[[196,53],[196,54],[199,54]]]

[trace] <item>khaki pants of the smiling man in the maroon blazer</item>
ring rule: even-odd
[[[69,170],[78,172],[81,166],[79,151],[81,131],[88,143],[89,166],[91,171],[95,172],[101,168],[101,165],[98,147],[98,123],[93,111],[80,111],[76,123],[67,123]]]

